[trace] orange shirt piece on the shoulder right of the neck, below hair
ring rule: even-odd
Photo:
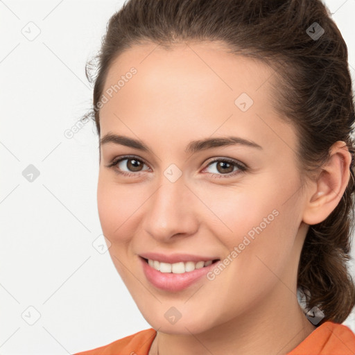
[[[349,327],[324,322],[287,355],[354,355],[355,334]]]

